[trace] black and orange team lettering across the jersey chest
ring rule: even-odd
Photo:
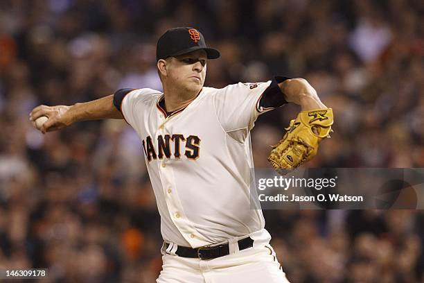
[[[171,140],[174,142],[173,154],[171,153]],[[197,137],[197,135],[189,135],[187,138],[181,134],[175,134],[172,135],[172,137],[170,135],[159,135],[157,137],[157,151],[154,149],[152,137],[146,137],[145,140],[143,139],[142,143],[148,161],[150,162],[158,158],[159,160],[170,158],[171,155],[174,155],[175,158],[181,157],[180,145],[182,141],[186,141],[186,151],[184,155],[186,155],[189,160],[197,160],[200,156],[200,137]]]

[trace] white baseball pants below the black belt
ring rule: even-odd
[[[162,271],[156,282],[289,283],[269,244],[270,239],[266,241],[263,238],[269,233],[263,231],[260,231],[262,234],[259,238],[251,236],[254,246],[245,250],[238,250],[237,239],[230,240],[229,248],[232,253],[216,259],[201,260],[166,253],[162,257]]]

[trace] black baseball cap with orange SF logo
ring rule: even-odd
[[[220,57],[220,51],[206,46],[200,31],[191,27],[170,28],[157,41],[156,61],[203,49],[208,59]]]

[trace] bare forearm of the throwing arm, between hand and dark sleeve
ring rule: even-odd
[[[76,103],[69,108],[72,122],[98,120],[98,119],[123,119],[114,105],[114,95],[105,96],[85,103]]]

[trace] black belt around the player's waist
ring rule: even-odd
[[[253,247],[253,240],[250,237],[238,241],[238,250],[245,250],[247,248]],[[170,245],[165,243],[166,248]],[[191,257],[198,259],[215,259],[217,257],[223,257],[224,255],[229,255],[229,246],[228,243],[224,243],[219,246],[213,247],[200,247],[200,248],[187,248],[178,246],[175,255],[179,257]]]

